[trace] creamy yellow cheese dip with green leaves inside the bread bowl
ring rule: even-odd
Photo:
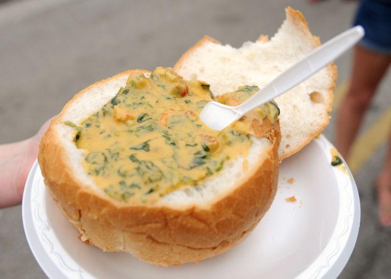
[[[234,106],[257,91],[243,86],[218,99]],[[228,160],[246,156],[251,135],[262,136],[279,114],[271,101],[216,131],[198,117],[215,99],[209,84],[158,67],[149,78],[132,73],[80,126],[65,124],[76,129],[76,145],[87,154],[84,170],[104,193],[123,202],[153,202],[214,178]]]

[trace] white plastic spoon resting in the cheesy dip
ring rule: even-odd
[[[350,28],[311,51],[239,106],[230,107],[215,101],[208,102],[200,113],[201,120],[214,130],[223,130],[248,111],[278,97],[315,74],[356,44],[363,36],[363,27]]]

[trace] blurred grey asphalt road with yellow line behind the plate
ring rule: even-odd
[[[303,12],[325,42],[351,26],[357,2],[0,0],[0,144],[32,136],[95,81],[125,69],[173,66],[205,34],[235,47],[261,33],[272,37],[287,6]],[[351,54],[336,61],[333,117],[349,84]],[[390,88],[388,74],[351,155],[362,219],[340,278],[390,278],[391,230],[378,223],[374,194],[391,123]],[[332,142],[333,131],[332,119],[324,131]],[[21,206],[0,210],[0,251],[1,278],[45,277],[28,247]]]

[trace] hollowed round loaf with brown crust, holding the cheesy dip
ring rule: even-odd
[[[85,151],[76,147],[74,130],[64,121],[79,125],[115,96],[132,71],[150,74],[137,69],[99,81],[76,94],[52,120],[38,156],[46,186],[80,239],[104,251],[129,252],[161,266],[227,251],[255,228],[275,196],[278,119],[264,137],[253,137],[246,158],[228,161],[216,178],[172,191],[153,204],[120,202],[83,170]]]

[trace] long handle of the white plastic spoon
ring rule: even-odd
[[[307,56],[288,68],[287,71],[277,76],[251,98],[235,107],[235,111],[243,115],[262,103],[285,93],[342,55],[363,36],[364,28],[356,26],[332,38],[322,46],[311,51]]]

